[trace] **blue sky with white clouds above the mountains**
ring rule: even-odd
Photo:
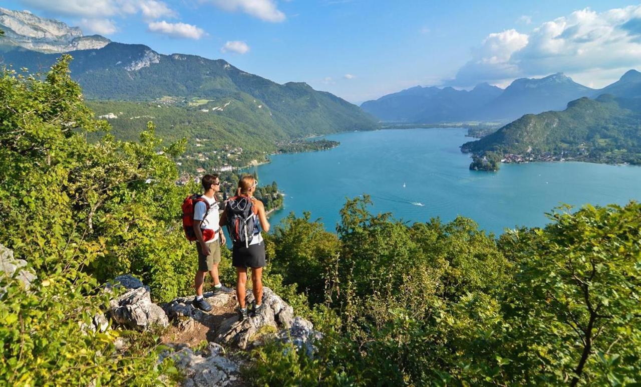
[[[354,103],[414,85],[564,72],[602,87],[641,67],[631,1],[2,0],[154,50],[223,58]]]

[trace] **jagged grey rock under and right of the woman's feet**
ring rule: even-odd
[[[247,291],[246,304],[254,301],[254,295]],[[262,336],[269,336],[278,329],[288,329],[292,324],[294,310],[272,289],[263,288],[263,304],[265,308],[256,315],[240,320],[236,315],[224,320],[216,331],[216,341],[224,345],[234,345],[247,349],[260,343]]]

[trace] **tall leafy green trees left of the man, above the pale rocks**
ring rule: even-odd
[[[62,255],[79,259],[101,282],[133,273],[154,297],[176,297],[195,270],[187,259],[193,249],[179,233],[187,192],[175,184],[172,159],[184,143],[156,154],[151,123],[139,142],[116,141],[84,105],[69,60],[64,56],[45,82],[3,75],[0,239],[47,273]],[[106,134],[89,143],[89,132]]]

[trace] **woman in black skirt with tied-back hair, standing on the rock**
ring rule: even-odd
[[[265,214],[265,206],[260,200],[254,198],[254,191],[258,180],[253,176],[243,176],[238,181],[237,196],[230,198],[224,211],[221,214],[220,225],[221,227],[229,223],[228,218],[233,218],[237,207],[245,205],[251,206],[251,217],[253,217],[254,227],[246,234],[246,240],[242,243],[234,241],[231,250],[231,262],[236,268],[237,281],[236,281],[236,297],[238,298],[238,313],[242,319],[247,318],[247,305],[245,305],[245,286],[247,282],[247,268],[251,268],[251,282],[253,285],[254,299],[256,304],[254,306],[254,316],[260,313],[263,309],[263,266],[265,266],[265,243],[263,243],[263,236],[260,234],[262,228],[265,232],[269,232],[269,222],[267,221],[267,214]],[[244,207],[243,207],[244,208]],[[260,227],[259,227],[260,224]],[[231,235],[230,235],[231,237]],[[233,237],[232,237],[233,240]]]

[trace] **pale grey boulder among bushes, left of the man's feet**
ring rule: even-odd
[[[147,331],[154,325],[169,325],[167,314],[162,307],[151,302],[149,287],[140,280],[131,275],[121,275],[107,289],[112,288],[126,289],[109,302],[109,314],[116,323],[138,331]]]

